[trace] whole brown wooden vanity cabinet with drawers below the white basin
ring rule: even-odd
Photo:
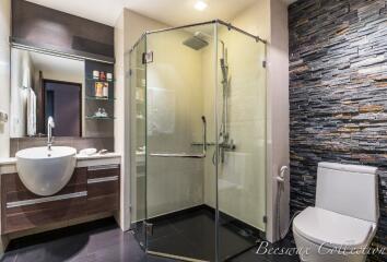
[[[1,234],[117,211],[119,174],[119,165],[79,167],[49,196],[28,191],[15,172],[1,175]]]

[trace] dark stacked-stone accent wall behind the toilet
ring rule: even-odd
[[[387,1],[298,0],[289,29],[292,213],[314,205],[318,162],[377,166],[386,247]]]

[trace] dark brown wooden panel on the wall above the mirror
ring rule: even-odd
[[[114,27],[24,0],[12,1],[12,41],[114,61]]]

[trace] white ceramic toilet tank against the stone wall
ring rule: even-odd
[[[316,206],[375,222],[379,217],[376,167],[321,162],[317,169]]]

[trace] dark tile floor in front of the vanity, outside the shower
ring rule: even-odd
[[[113,218],[12,240],[7,262],[166,262],[148,257],[132,233],[122,233]]]

